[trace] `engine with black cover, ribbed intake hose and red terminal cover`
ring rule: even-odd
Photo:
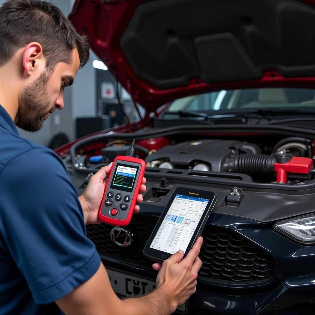
[[[166,169],[242,173],[256,182],[281,184],[298,184],[300,180],[311,180],[315,174],[311,158],[283,150],[262,154],[256,144],[233,140],[181,142],[152,153],[146,163],[148,167]]]

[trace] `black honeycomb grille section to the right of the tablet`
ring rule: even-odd
[[[257,281],[272,277],[271,255],[234,232],[206,226],[202,233],[199,275],[230,281]]]

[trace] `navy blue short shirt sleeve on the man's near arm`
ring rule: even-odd
[[[69,294],[99,268],[77,193],[59,158],[33,148],[0,174],[0,232],[34,301]]]

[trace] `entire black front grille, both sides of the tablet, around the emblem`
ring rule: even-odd
[[[101,223],[87,226],[87,236],[95,243],[100,254],[115,256],[141,262],[151,266],[152,261],[143,256],[142,251],[149,239],[158,217],[142,214],[134,215],[126,227],[134,234],[129,247],[119,247],[110,237],[113,226]],[[272,256],[254,243],[235,234],[229,229],[205,226],[200,259],[203,266],[199,276],[232,282],[267,280],[272,277],[275,264]]]

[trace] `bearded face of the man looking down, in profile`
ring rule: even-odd
[[[72,63],[59,62],[52,73],[46,69],[31,84],[26,86],[19,98],[18,127],[36,132],[54,110],[63,108],[64,88],[72,84],[79,69],[77,49],[72,51]]]

